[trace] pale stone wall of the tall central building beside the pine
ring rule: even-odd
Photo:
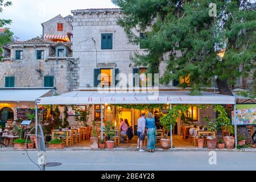
[[[130,44],[123,28],[117,25],[117,19],[122,16],[119,9],[76,10],[72,13],[72,50],[80,60],[80,88],[94,86],[93,69],[96,68],[117,68],[126,76],[133,73],[136,67],[130,56],[145,51]],[[113,34],[113,49],[101,49],[101,34]],[[163,67],[161,64],[160,75],[163,75]]]

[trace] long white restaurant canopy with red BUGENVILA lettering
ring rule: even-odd
[[[74,91],[61,96],[39,98],[38,105],[88,105],[88,104],[235,104],[233,96],[201,92],[191,96],[189,91],[158,91],[150,93],[100,93],[100,91]]]

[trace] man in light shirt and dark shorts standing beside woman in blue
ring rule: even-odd
[[[142,149],[142,144],[143,144],[143,140],[145,139],[145,136],[144,136],[145,126],[146,126],[145,115],[146,114],[142,114],[141,118],[138,119],[138,129],[137,129],[138,145],[137,145],[137,149],[139,149],[139,152],[144,152],[144,150]]]

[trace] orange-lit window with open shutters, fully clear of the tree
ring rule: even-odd
[[[94,86],[114,86],[118,84],[119,69],[94,69]]]

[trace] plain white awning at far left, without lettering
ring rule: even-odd
[[[53,89],[0,88],[0,103],[35,102],[36,98],[52,96]]]

